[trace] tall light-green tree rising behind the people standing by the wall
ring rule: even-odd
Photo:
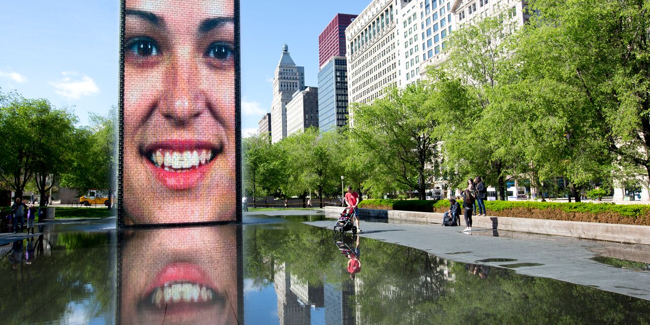
[[[466,177],[482,175],[486,183],[496,183],[500,200],[506,196],[506,177],[525,162],[512,137],[516,116],[497,101],[500,89],[510,82],[514,28],[502,14],[463,25],[445,44],[445,73],[436,68],[429,72],[434,82],[448,83],[440,87],[452,98],[465,98],[465,105],[455,101],[459,105],[445,113],[447,169]]]

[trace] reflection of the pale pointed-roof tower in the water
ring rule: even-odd
[[[274,285],[278,295],[279,323],[281,325],[309,324],[311,322],[309,304],[300,301],[298,295],[291,290],[291,275],[286,268],[286,263],[275,266]]]

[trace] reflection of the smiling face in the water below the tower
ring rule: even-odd
[[[237,324],[237,226],[125,233],[125,324]]]

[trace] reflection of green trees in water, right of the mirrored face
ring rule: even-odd
[[[357,324],[650,324],[650,302],[489,268],[481,276],[421,250],[362,238],[363,271],[351,281],[331,231],[302,224],[244,231],[246,278],[273,281],[274,263],[309,283],[354,286]],[[253,267],[251,267],[253,266]],[[325,279],[325,280],[323,280]]]

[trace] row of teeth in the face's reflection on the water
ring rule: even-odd
[[[211,289],[192,283],[166,284],[151,292],[151,303],[161,307],[179,302],[207,302],[214,294]]]

